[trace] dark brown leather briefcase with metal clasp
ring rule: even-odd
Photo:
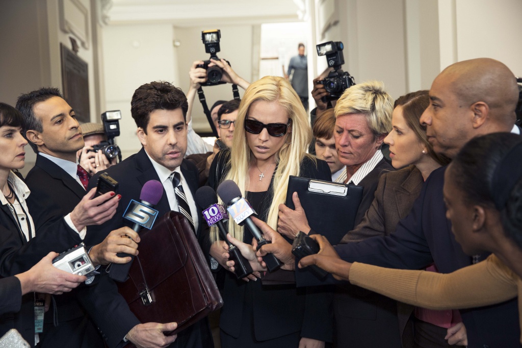
[[[177,322],[175,334],[220,308],[223,300],[186,218],[169,212],[139,235],[139,255],[120,294],[141,322]],[[167,334],[167,333],[166,333]]]

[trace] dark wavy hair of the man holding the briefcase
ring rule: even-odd
[[[188,103],[181,88],[165,81],[155,81],[141,85],[134,91],[131,100],[131,114],[138,127],[147,134],[150,113],[154,110],[175,110],[181,108],[186,121]]]

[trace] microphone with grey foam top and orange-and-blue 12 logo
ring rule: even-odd
[[[235,182],[232,180],[225,180],[219,185],[217,191],[223,202],[227,202],[227,210],[235,223],[240,226],[246,225],[250,230],[250,233],[252,233],[252,236],[257,239],[257,250],[265,244],[270,243],[269,240],[266,240],[265,237],[263,237],[250,218],[250,216],[256,214],[256,212],[250,203],[242,197],[241,190]],[[266,254],[263,257],[263,261],[265,261],[270,272],[276,271],[282,265],[281,261],[279,261],[274,254]]]

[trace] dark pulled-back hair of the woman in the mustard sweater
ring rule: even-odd
[[[504,233],[522,249],[522,170],[503,173],[516,176],[516,183],[505,204],[500,208],[495,206],[496,193],[506,185],[506,180],[496,178],[497,167],[502,165],[506,154],[521,143],[522,137],[513,133],[472,138],[460,149],[449,168],[452,180],[464,193],[465,201],[499,211]],[[520,146],[519,152],[518,158],[522,155]]]

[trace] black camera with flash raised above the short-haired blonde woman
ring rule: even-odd
[[[343,48],[345,47],[341,41],[328,41],[316,46],[317,55],[326,55],[328,67],[334,68],[326,78],[319,81],[319,84],[325,86],[329,93],[328,96],[321,98],[323,102],[339,99],[347,88],[355,85],[353,77],[341,69],[342,64],[345,64],[345,56],[342,54]]]

